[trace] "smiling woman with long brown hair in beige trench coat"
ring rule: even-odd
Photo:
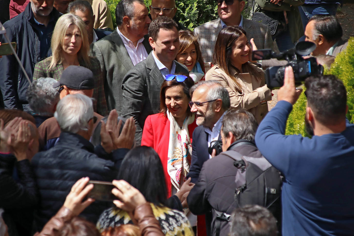
[[[268,113],[267,101],[272,100],[272,93],[265,85],[263,70],[249,62],[251,56],[244,29],[222,29],[215,44],[215,66],[206,73],[205,80],[221,82],[229,92],[231,107],[249,110],[259,123]]]

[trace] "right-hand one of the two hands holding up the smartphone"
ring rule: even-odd
[[[116,187],[112,189],[112,194],[120,199],[113,201],[118,208],[126,212],[133,212],[137,206],[146,203],[141,192],[125,180],[113,180],[112,184]]]

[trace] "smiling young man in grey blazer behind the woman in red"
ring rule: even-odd
[[[179,49],[177,24],[160,16],[149,26],[149,43],[153,51],[125,76],[122,82],[122,116],[136,120],[135,138],[140,145],[142,129],[148,115],[160,110],[160,89],[168,74],[189,75],[187,67],[175,61]]]

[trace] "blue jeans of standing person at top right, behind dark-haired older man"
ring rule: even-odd
[[[335,16],[337,12],[338,4],[304,4],[299,6],[299,12],[301,16],[302,25],[304,31],[309,19],[318,14]],[[299,41],[304,41],[305,36],[302,36]]]

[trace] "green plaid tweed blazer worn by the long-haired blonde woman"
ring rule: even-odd
[[[34,66],[33,80],[38,80],[41,77],[50,77],[57,81],[60,79],[64,67],[62,64],[57,64],[53,69],[49,70],[49,65],[51,61],[52,61],[52,57],[48,57],[43,61],[38,62]],[[106,98],[104,95],[101,66],[96,57],[90,57],[90,62],[91,62],[91,71],[95,78],[95,88],[93,88],[93,95],[92,95],[92,97],[95,98],[95,100],[93,100],[93,111],[97,112],[102,116],[106,116],[108,115],[108,110],[107,110]],[[88,68],[85,63],[80,63],[80,65],[82,67]]]

